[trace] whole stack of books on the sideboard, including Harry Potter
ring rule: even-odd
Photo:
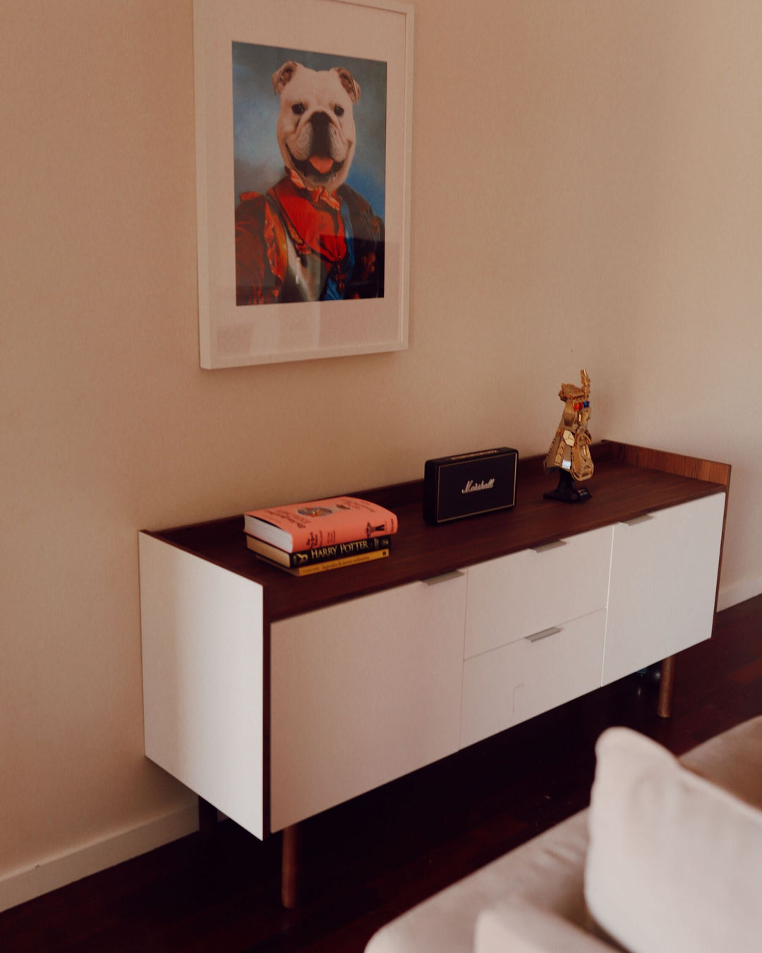
[[[331,497],[244,514],[257,558],[293,576],[311,576],[389,556],[397,517],[359,497]]]

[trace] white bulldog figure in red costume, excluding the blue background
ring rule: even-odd
[[[235,210],[238,305],[384,294],[384,222],[347,178],[357,147],[360,86],[337,66],[293,60],[272,74],[283,177],[244,192]]]

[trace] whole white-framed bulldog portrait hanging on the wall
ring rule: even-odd
[[[202,367],[408,346],[412,20],[194,0]]]

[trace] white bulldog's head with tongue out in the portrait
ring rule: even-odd
[[[352,107],[360,87],[340,67],[315,71],[289,60],[272,75],[280,94],[277,136],[283,161],[309,189],[333,193],[346,180],[354,155]]]

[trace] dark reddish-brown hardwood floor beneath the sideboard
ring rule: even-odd
[[[584,807],[593,744],[626,724],[680,754],[762,713],[762,597],[678,657],[671,720],[657,679],[622,679],[343,804],[303,829],[303,900],[280,905],[280,840],[231,821],[0,914],[0,950],[361,951],[412,904]]]

